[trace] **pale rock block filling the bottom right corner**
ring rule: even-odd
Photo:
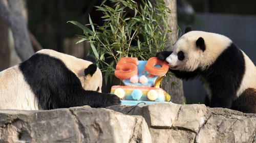
[[[254,142],[255,114],[224,108],[208,108],[210,113],[196,136],[196,142]]]

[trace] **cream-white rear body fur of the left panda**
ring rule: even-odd
[[[0,109],[38,110],[36,98],[18,65],[0,72]]]

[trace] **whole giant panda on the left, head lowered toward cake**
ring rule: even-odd
[[[50,49],[0,72],[0,109],[55,109],[120,104],[101,92],[102,75],[90,55],[85,60]]]

